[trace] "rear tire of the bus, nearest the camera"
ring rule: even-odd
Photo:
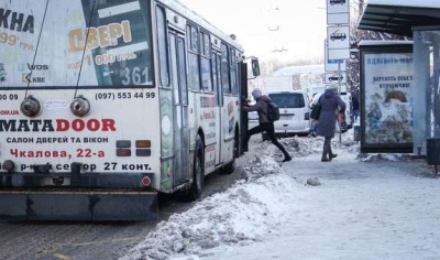
[[[193,166],[193,183],[186,193],[186,198],[190,202],[196,201],[200,197],[201,191],[204,189],[205,172],[205,151],[204,142],[200,136],[197,136],[196,150],[194,152],[194,166]]]

